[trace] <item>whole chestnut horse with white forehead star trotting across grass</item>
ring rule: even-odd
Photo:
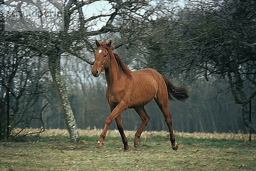
[[[100,135],[97,148],[104,146],[104,139],[108,127],[115,119],[117,129],[122,137],[124,149],[125,151],[130,150],[120,115],[127,108],[135,109],[142,121],[134,138],[134,147],[137,148],[140,144],[140,135],[150,119],[144,106],[154,98],[158,107],[163,112],[166,124],[169,128],[172,149],[177,150],[178,144],[175,142],[172,129],[168,99],[171,101],[186,101],[188,91],[184,87],[175,87],[169,80],[154,69],[148,68],[131,71],[120,56],[111,50],[111,43],[112,41],[98,42],[96,40],[97,50],[94,53],[95,62],[92,68],[92,74],[98,77],[99,74],[105,70],[105,77],[108,84],[106,98],[111,111],[111,114],[105,120],[105,126]]]

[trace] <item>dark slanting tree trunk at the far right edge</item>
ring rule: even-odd
[[[234,81],[231,75],[229,74],[229,81],[230,81],[233,97],[235,98],[235,103],[239,103],[242,106],[241,109],[242,109],[244,124],[249,128],[250,131],[256,133],[256,126],[253,125],[249,120],[249,112],[247,109],[248,98],[245,94],[243,81],[241,79],[239,72],[238,71],[235,72]]]

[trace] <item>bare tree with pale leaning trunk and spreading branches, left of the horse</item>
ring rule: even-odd
[[[90,59],[84,57],[84,51],[94,51],[92,39],[95,36],[119,33],[125,28],[120,23],[147,16],[145,10],[141,11],[148,6],[148,1],[144,0],[108,0],[105,1],[106,9],[99,8],[96,14],[88,15],[84,9],[92,8],[93,3],[99,4],[100,2],[98,0],[85,2],[69,0],[65,3],[60,0],[18,2],[7,0],[5,2],[6,9],[10,11],[6,17],[10,22],[5,28],[6,31],[9,31],[9,35],[5,34],[1,40],[32,50],[38,53],[42,59],[47,57],[49,71],[65,116],[70,138],[75,142],[79,141],[79,134],[63,76],[61,76],[62,54],[70,54],[88,64],[93,64]],[[49,11],[55,15],[47,16]],[[38,15],[29,15],[33,12]],[[16,15],[8,16],[12,14]],[[12,20],[9,20],[10,18]]]

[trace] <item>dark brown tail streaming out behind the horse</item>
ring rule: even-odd
[[[188,90],[185,87],[175,87],[171,81],[163,76],[168,91],[169,101],[186,101],[189,98]]]

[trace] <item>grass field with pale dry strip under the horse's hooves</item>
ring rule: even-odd
[[[255,135],[249,143],[244,134],[176,132],[179,149],[172,151],[167,132],[143,132],[135,149],[135,131],[125,131],[131,148],[125,152],[116,130],[97,149],[100,132],[80,130],[78,144],[63,129],[0,142],[0,170],[256,170]]]

